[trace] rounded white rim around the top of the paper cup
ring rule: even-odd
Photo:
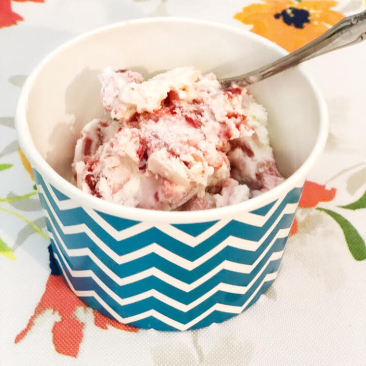
[[[117,203],[105,201],[101,198],[97,198],[95,196],[82,192],[80,189],[75,187],[71,182],[69,182],[68,180],[57,174],[51,168],[51,166],[48,165],[48,163],[41,156],[41,154],[39,153],[33,142],[26,118],[29,92],[31,91],[39,73],[42,71],[42,68],[53,57],[57,56],[60,52],[62,52],[69,46],[78,43],[80,40],[92,37],[95,34],[106,31],[108,29],[118,28],[128,24],[154,23],[154,22],[166,22],[166,23],[188,22],[188,23],[203,24],[210,27],[221,28],[225,29],[226,31],[234,32],[237,34],[245,34],[246,37],[255,39],[257,42],[261,42],[268,48],[277,50],[283,55],[286,55],[288,53],[286,50],[284,50],[277,44],[268,41],[267,39],[260,37],[256,34],[253,34],[247,31],[246,29],[238,29],[233,26],[225,24],[193,18],[154,17],[154,18],[139,18],[134,20],[127,20],[100,27],[98,29],[84,33],[80,36],[71,39],[70,41],[64,43],[63,45],[57,47],[55,50],[50,52],[39,63],[39,65],[35,68],[32,74],[26,79],[23,88],[21,90],[16,108],[15,127],[18,134],[20,147],[23,150],[25,156],[31,162],[31,165],[37,169],[37,171],[41,174],[43,179],[46,182],[49,182],[60,192],[64,193],[70,199],[79,202],[80,206],[82,207],[93,208],[98,211],[105,212],[106,214],[109,215],[134,221],[167,223],[167,224],[194,224],[200,222],[220,220],[226,217],[233,217],[237,214],[242,213],[243,211],[249,212],[259,207],[263,207],[266,204],[278,199],[281,196],[281,194],[289,192],[291,189],[296,187],[296,185],[298,185],[299,182],[301,182],[304,178],[306,178],[309,170],[314,165],[314,163],[316,162],[317,158],[319,157],[325,146],[328,135],[329,121],[328,121],[326,103],[321,93],[319,92],[318,87],[316,86],[312,78],[309,77],[309,75],[305,73],[299,66],[297,67],[297,70],[299,71],[299,73],[302,74],[302,76],[304,76],[308,80],[310,86],[313,89],[316,100],[318,102],[318,107],[320,111],[320,123],[319,123],[317,140],[306,161],[304,161],[303,164],[293,174],[291,174],[287,179],[285,179],[284,182],[282,182],[279,186],[269,190],[268,192],[265,192],[257,197],[251,198],[248,201],[220,208],[211,208],[207,210],[196,210],[196,211],[159,211],[145,208],[127,207],[123,205],[118,205]]]

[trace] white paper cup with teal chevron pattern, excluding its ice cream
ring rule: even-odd
[[[275,280],[306,175],[327,137],[325,103],[294,68],[251,87],[268,111],[280,186],[204,211],[120,206],[70,183],[81,128],[102,116],[98,73],[195,66],[241,74],[286,54],[245,30],[151,18],[105,26],[51,52],[28,77],[16,129],[34,169],[56,262],[93,309],[140,328],[186,330],[248,309]]]

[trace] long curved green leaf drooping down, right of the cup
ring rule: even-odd
[[[352,257],[357,261],[366,259],[365,242],[363,241],[362,237],[355,229],[355,227],[342,215],[337,214],[337,212],[320,207],[318,207],[317,210],[325,212],[339,224],[339,226],[343,230],[343,234],[345,236],[347,246],[352,254]]]

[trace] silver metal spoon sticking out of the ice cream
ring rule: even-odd
[[[240,86],[247,86],[298,65],[303,61],[338,48],[356,44],[364,39],[366,39],[366,11],[341,20],[314,41],[269,65],[247,74],[221,79],[220,82],[223,87],[228,87],[231,82],[235,82]]]

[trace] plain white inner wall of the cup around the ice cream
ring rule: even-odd
[[[26,118],[41,156],[71,178],[74,146],[82,127],[103,117],[98,74],[107,66],[144,77],[195,66],[218,78],[239,75],[283,56],[270,42],[227,26],[194,20],[150,19],[102,28],[57,49],[39,69],[28,95]],[[268,112],[271,145],[288,177],[310,155],[320,129],[320,107],[298,68],[250,87]]]

